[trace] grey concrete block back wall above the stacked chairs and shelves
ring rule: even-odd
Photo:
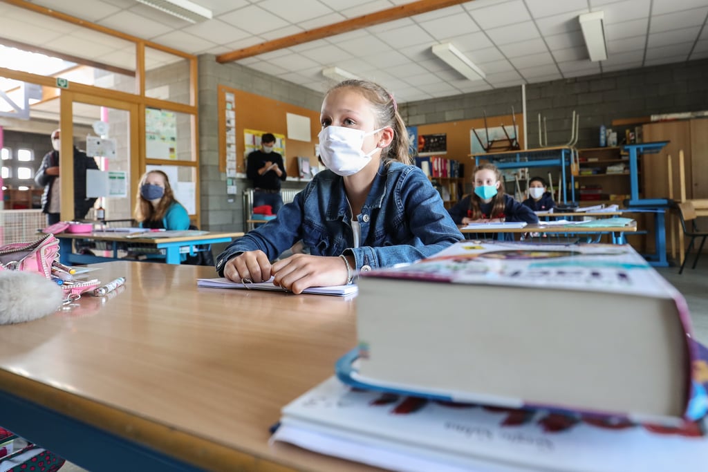
[[[615,119],[708,110],[708,59],[529,84],[526,101],[529,148],[540,146],[539,113],[546,119],[548,145],[568,142],[573,110],[580,116],[577,146],[596,147],[600,125],[610,127]],[[521,113],[520,86],[404,103],[401,113],[407,124],[423,125],[479,118],[484,112],[507,115],[512,106]]]

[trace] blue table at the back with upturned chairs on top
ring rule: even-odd
[[[490,152],[489,154],[472,155],[474,165],[479,166],[479,161],[484,159],[493,163],[498,169],[518,169],[524,167],[560,167],[561,183],[563,184],[563,202],[568,202],[566,183],[566,168],[571,167],[573,155],[576,151],[569,146],[542,147],[538,149],[525,149],[517,151]],[[575,188],[575,177],[571,177],[571,188]],[[571,202],[575,202],[574,192],[571,192]]]

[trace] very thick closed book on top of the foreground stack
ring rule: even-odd
[[[358,285],[364,384],[660,424],[704,413],[685,300],[629,245],[461,241]]]

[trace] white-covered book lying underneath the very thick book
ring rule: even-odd
[[[696,348],[705,389],[708,350]],[[393,471],[700,471],[708,464],[701,427],[435,401],[331,377],[282,408],[271,440]]]

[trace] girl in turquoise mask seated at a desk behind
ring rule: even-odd
[[[474,169],[474,193],[467,195],[454,207],[450,216],[456,224],[526,221],[538,223],[538,217],[529,207],[507,195],[501,186],[501,172],[491,163]]]

